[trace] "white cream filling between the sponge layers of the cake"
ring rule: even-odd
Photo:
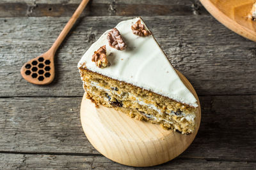
[[[88,85],[88,83],[86,83],[85,81],[83,81],[83,83],[85,85]],[[109,90],[109,89],[106,89],[104,87],[101,87],[100,85],[98,85],[99,83],[95,82],[95,81],[91,81],[90,85],[93,86],[93,87],[96,87],[97,89],[100,89],[100,90],[103,90],[105,92],[113,92],[115,93],[117,96],[120,96],[120,94],[118,94],[115,90]],[[136,97],[134,95],[132,95],[131,93],[127,92],[129,94],[129,96],[132,96],[132,97],[135,97],[136,98],[136,101],[134,101],[134,103],[138,103],[140,105],[143,105],[143,106],[147,106],[148,108],[152,109],[152,110],[156,110],[160,115],[163,115],[163,112],[161,110],[159,110],[156,106],[154,106],[154,104],[147,104],[145,102],[143,102],[143,99],[141,99],[140,97]],[[106,97],[105,97],[106,98]],[[108,99],[106,98],[105,99],[106,101],[108,101]],[[168,122],[168,124],[173,124],[173,122],[170,122],[168,120],[164,120],[163,118],[157,118],[153,115],[147,115],[146,113],[144,113],[146,117],[148,118],[152,118],[154,120],[158,120],[159,122],[161,122],[161,120],[165,121],[165,122]],[[193,114],[188,114],[186,115],[185,113],[180,113],[180,115],[175,115],[174,111],[171,111],[170,113],[167,113],[168,115],[170,116],[177,116],[177,117],[182,117],[180,118],[180,121],[179,122],[182,122],[182,120],[186,119],[188,120],[189,122],[193,122],[193,124],[195,124],[195,115]]]

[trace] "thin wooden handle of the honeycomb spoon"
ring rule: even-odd
[[[74,12],[74,14],[70,18],[70,20],[68,20],[67,25],[65,25],[64,29],[60,32],[60,35],[58,36],[56,41],[53,43],[52,47],[50,48],[50,50],[48,52],[51,52],[54,55],[54,53],[56,52],[58,47],[61,45],[63,39],[65,39],[65,37],[67,36],[68,32],[70,31],[72,26],[75,24],[77,18],[81,15],[81,13],[83,12],[85,6],[88,4],[89,1],[90,0],[83,0],[79,4],[78,8]]]

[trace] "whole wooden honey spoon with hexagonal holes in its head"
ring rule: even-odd
[[[81,15],[89,1],[90,0],[83,0],[79,4],[77,10],[74,12],[67,25],[65,25],[58,38],[47,52],[35,59],[29,60],[21,67],[20,74],[25,80],[36,85],[47,85],[52,82],[55,76],[54,55],[56,50],[61,45],[63,39],[67,36],[68,32],[75,24],[77,18]]]

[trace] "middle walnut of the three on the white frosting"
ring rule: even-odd
[[[109,46],[111,46],[112,48],[116,48],[116,50],[125,50],[125,48],[127,47],[120,32],[116,28],[113,28],[111,29],[111,31],[108,32],[107,38]]]

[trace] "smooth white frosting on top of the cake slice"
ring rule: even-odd
[[[154,37],[152,35],[140,37],[132,33],[131,25],[137,20],[140,18],[125,20],[116,25],[116,29],[127,44],[125,50],[116,50],[109,46],[107,35],[110,30],[108,30],[84,53],[78,67],[85,63],[86,68],[93,72],[197,107],[195,96],[180,80]],[[141,24],[144,24],[143,20]],[[99,68],[95,62],[92,62],[92,55],[103,45],[106,45],[110,66]]]

